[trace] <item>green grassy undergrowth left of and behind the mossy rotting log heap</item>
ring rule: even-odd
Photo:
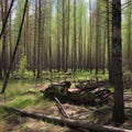
[[[6,102],[6,105],[14,108],[33,108],[33,107],[51,107],[55,103],[50,101],[48,99],[43,97],[43,94],[38,91],[40,88],[43,88],[44,86],[48,86],[50,80],[52,81],[62,81],[62,80],[81,80],[81,79],[91,79],[95,77],[99,77],[100,79],[108,79],[108,74],[103,75],[100,73],[98,76],[95,76],[95,72],[89,73],[86,70],[81,72],[53,72],[42,73],[42,78],[36,79],[31,75],[31,72],[24,72],[24,77],[21,79],[14,79],[10,78],[7,90],[4,95],[0,95],[1,102]],[[3,82],[0,81],[0,89],[2,89]],[[112,88],[111,88],[112,90]]]

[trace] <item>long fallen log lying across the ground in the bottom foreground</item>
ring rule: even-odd
[[[30,117],[33,119],[38,119],[38,120],[44,120],[47,122],[55,122],[61,125],[67,125],[70,128],[78,128],[78,129],[87,129],[89,131],[96,131],[96,132],[132,132],[132,130],[127,130],[127,129],[120,129],[120,128],[114,128],[114,127],[108,127],[108,125],[100,125],[96,123],[89,123],[88,121],[82,121],[82,120],[72,120],[72,119],[61,119],[57,117],[52,117],[52,116],[44,116],[42,113],[34,113],[31,111],[25,111],[21,109],[15,109],[15,108],[10,108],[7,106],[1,106],[7,111],[13,111],[22,117]]]

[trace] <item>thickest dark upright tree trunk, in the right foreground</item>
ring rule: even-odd
[[[121,0],[112,0],[112,74],[114,86],[113,121],[124,122],[121,41]]]

